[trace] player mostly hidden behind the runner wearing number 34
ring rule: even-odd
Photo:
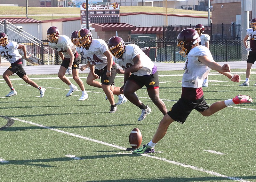
[[[84,59],[87,63],[85,65],[80,66],[80,68],[79,68],[81,71],[84,71],[86,68],[89,67],[89,64],[88,64],[87,59],[83,55],[84,52],[81,52],[81,47],[82,46],[81,46],[80,42],[78,41],[77,34],[78,34],[78,31],[72,32],[72,34],[70,36],[70,39],[73,42],[73,44],[76,46],[76,51],[81,55],[82,60]],[[91,73],[88,74],[88,77],[86,79],[86,83],[90,86],[93,86],[93,87],[102,88],[101,83],[99,81],[95,81],[95,78],[92,76]],[[114,84],[111,87],[114,87]],[[119,94],[117,96],[118,96],[118,102],[116,103],[116,105],[121,105],[121,104],[123,104],[124,102],[127,101],[127,99],[124,97],[123,94]],[[108,97],[106,96],[106,100],[107,99],[108,99]]]

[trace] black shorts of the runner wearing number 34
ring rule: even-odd
[[[107,69],[108,69],[108,65],[105,66],[101,70],[98,70],[98,69],[95,68],[94,73],[97,74],[99,77],[101,77],[101,84],[103,84],[103,85],[113,85],[114,80],[116,78],[117,66],[116,66],[116,64],[112,65],[111,76],[110,77],[107,77]]]

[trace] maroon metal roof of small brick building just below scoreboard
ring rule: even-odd
[[[131,31],[136,27],[128,23],[93,23],[92,27],[101,31]]]

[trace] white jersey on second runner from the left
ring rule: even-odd
[[[70,55],[67,52],[68,48],[72,50],[73,54],[76,53],[76,46],[74,46],[70,38],[66,35],[59,35],[58,42],[49,42],[49,46],[58,52],[62,52],[66,58],[70,58]]]

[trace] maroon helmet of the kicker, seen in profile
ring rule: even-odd
[[[177,47],[180,49],[180,55],[186,57],[192,45],[200,41],[201,39],[195,29],[187,28],[182,30],[177,36]]]

